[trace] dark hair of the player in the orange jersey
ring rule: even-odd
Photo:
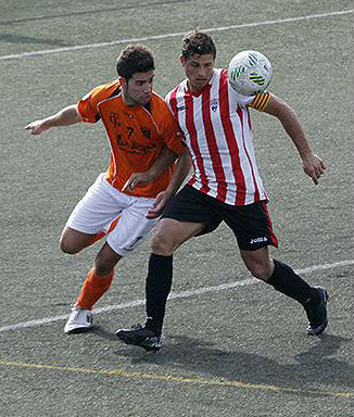
[[[136,73],[155,70],[151,49],[143,45],[129,45],[117,58],[116,68],[119,77],[127,83]]]

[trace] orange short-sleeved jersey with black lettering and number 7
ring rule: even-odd
[[[128,106],[124,103],[119,81],[96,87],[78,102],[84,122],[96,123],[100,118],[111,144],[111,164],[106,179],[122,191],[132,173],[148,170],[159,157],[164,146],[176,154],[185,149],[179,128],[165,101],[154,92],[149,108]],[[173,165],[153,182],[137,186],[127,194],[154,198],[170,181]]]

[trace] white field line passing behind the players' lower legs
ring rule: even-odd
[[[317,270],[332,269],[332,268],[339,268],[339,267],[350,266],[350,265],[354,265],[354,261],[341,261],[341,262],[334,262],[332,264],[314,265],[307,268],[298,269],[296,273],[300,275],[306,275]],[[222,283],[219,286],[203,287],[203,288],[197,288],[194,290],[172,292],[168,296],[168,300],[172,301],[172,300],[178,300],[178,299],[188,299],[190,296],[204,294],[206,292],[229,290],[237,287],[251,286],[257,282],[261,282],[261,281],[255,278],[249,278],[249,279],[243,279],[242,281]],[[106,307],[94,308],[94,314],[111,312],[114,309],[136,307],[138,305],[144,305],[144,303],[146,303],[144,300],[135,300],[135,301],[130,301],[123,304],[108,305]],[[26,327],[38,327],[41,325],[48,325],[50,323],[65,320],[68,318],[68,316],[69,316],[68,314],[64,314],[61,316],[45,317],[37,320],[29,320],[29,321],[17,323],[15,325],[3,326],[3,327],[0,327],[0,332],[16,330],[16,329],[24,329]]]

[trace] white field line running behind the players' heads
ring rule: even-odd
[[[210,27],[210,28],[203,29],[203,31],[225,31],[225,30],[230,30],[230,29],[242,29],[242,28],[245,28],[245,27],[277,25],[277,24],[281,24],[281,23],[292,23],[292,22],[299,22],[299,21],[309,21],[309,20],[314,20],[314,18],[326,18],[326,17],[341,16],[341,15],[345,15],[345,14],[351,14],[353,12],[354,12],[354,9],[342,10],[342,11],[331,12],[331,13],[308,14],[308,15],[305,15],[305,16],[279,18],[279,20],[274,20],[274,21],[244,23],[242,25]],[[170,34],[163,34],[163,35],[147,36],[147,37],[143,37],[143,38],[121,39],[121,40],[114,40],[112,42],[77,45],[75,47],[65,47],[65,48],[47,49],[47,50],[41,50],[41,51],[14,53],[14,54],[11,54],[11,55],[0,55],[0,61],[15,60],[15,59],[27,58],[27,56],[47,55],[47,54],[50,54],[50,53],[61,53],[61,52],[78,51],[78,50],[83,50],[83,49],[113,47],[115,45],[121,45],[121,43],[144,42],[147,40],[157,40],[157,39],[174,38],[174,37],[177,37],[177,36],[184,36],[185,34],[186,34],[186,31],[178,31],[178,33],[170,33]]]

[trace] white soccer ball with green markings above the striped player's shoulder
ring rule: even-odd
[[[229,64],[229,83],[242,96],[254,96],[264,91],[269,86],[271,75],[270,62],[257,51],[240,52]]]

